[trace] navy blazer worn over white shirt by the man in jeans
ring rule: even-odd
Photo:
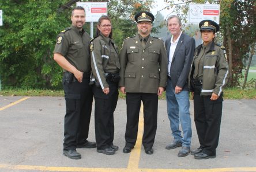
[[[171,46],[171,37],[165,41],[165,48],[167,50],[167,57],[169,59]],[[172,88],[176,85],[182,90],[189,91],[188,77],[191,62],[193,60],[195,51],[195,40],[185,33],[180,35],[178,44],[176,46],[174,57],[171,62],[171,83]]]

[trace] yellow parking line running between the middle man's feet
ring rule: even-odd
[[[133,148],[133,151],[131,151],[127,169],[138,169],[138,165],[141,157],[141,144],[142,144],[143,130],[144,130],[144,117],[143,117],[143,105],[141,104],[137,142]]]

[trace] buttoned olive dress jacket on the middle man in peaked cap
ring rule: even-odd
[[[149,36],[145,48],[138,34],[126,38],[119,58],[119,87],[126,92],[157,93],[159,87],[166,87],[167,53],[160,38]]]

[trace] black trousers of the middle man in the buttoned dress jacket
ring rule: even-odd
[[[127,123],[125,146],[134,147],[136,143],[141,101],[144,105],[144,133],[142,144],[145,148],[152,148],[155,142],[157,128],[158,96],[156,93],[126,93]]]

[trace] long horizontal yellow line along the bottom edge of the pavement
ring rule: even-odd
[[[111,168],[83,168],[83,167],[47,167],[27,165],[4,165],[0,169],[6,170],[37,170],[37,171],[90,171],[90,172],[233,172],[256,171],[256,167],[236,167],[220,169],[111,169]]]

